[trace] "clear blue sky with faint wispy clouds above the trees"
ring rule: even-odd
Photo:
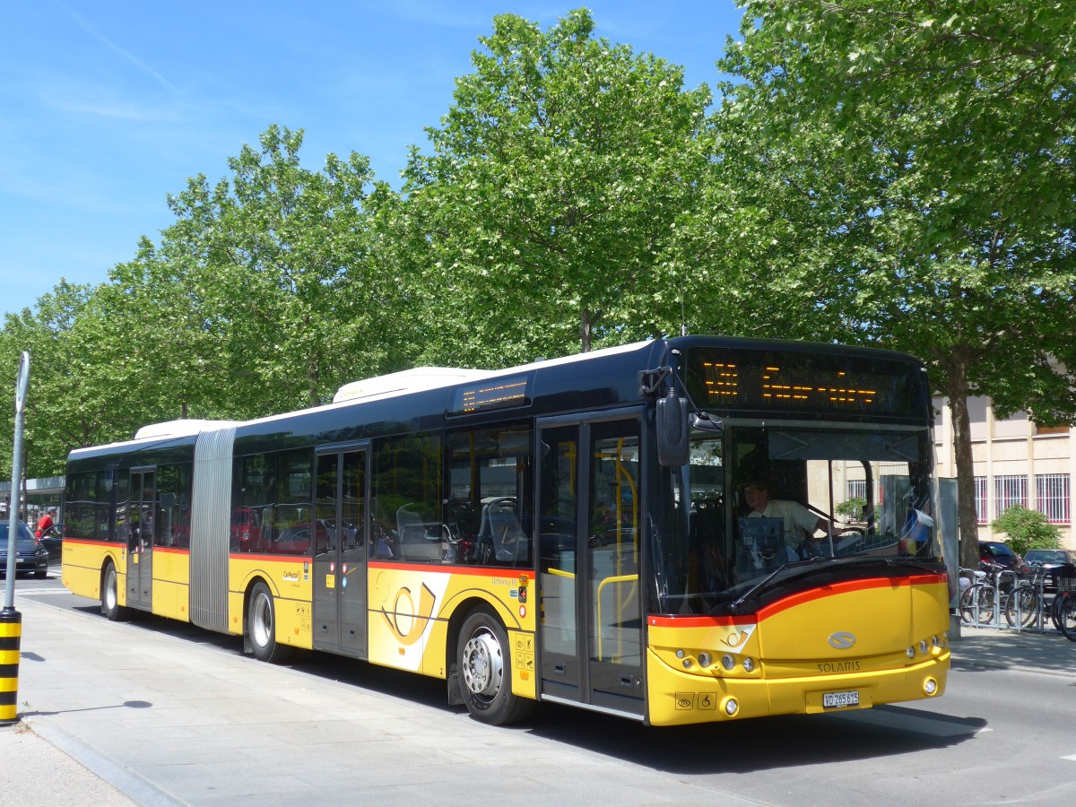
[[[305,130],[308,168],[355,151],[398,186],[494,15],[548,28],[581,5],[691,87],[713,87],[742,16],[735,0],[0,0],[0,313],[60,278],[107,280],[174,221],[168,194],[227,175],[273,123]]]

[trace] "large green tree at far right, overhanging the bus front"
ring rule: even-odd
[[[967,398],[1044,423],[1076,413],[1071,4],[744,8],[744,40],[719,62],[740,80],[722,86],[721,159],[739,169],[741,209],[795,236],[760,318],[810,306],[819,338],[930,364],[953,411],[972,565]]]

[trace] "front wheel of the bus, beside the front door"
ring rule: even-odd
[[[534,700],[512,694],[508,634],[493,613],[477,608],[468,614],[456,642],[459,691],[471,717],[505,725],[526,717]]]

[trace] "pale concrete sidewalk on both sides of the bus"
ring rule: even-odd
[[[601,760],[608,775],[595,777],[596,754],[585,748],[549,744],[536,755],[533,734],[431,708],[439,691],[422,679],[413,684],[417,697],[397,697],[377,684],[406,674],[374,672],[368,689],[260,664],[238,655],[226,639],[207,649],[211,640],[173,636],[159,623],[109,623],[32,598],[17,607],[23,720],[0,728],[0,806],[385,798],[473,805],[504,803],[506,793],[516,803],[537,803],[556,801],[558,783],[569,781],[578,801],[584,771],[594,779],[587,801],[698,795],[668,780],[657,792],[653,781],[608,758]],[[130,640],[117,632],[129,632]],[[213,653],[209,668],[206,652]],[[378,669],[356,664],[359,678],[363,668]],[[1056,632],[965,631],[953,645],[952,668],[952,675],[1019,668],[1076,677],[1076,643]],[[477,770],[502,784],[477,790]]]

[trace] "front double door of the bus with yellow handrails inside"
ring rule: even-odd
[[[638,417],[539,424],[541,691],[642,716]]]

